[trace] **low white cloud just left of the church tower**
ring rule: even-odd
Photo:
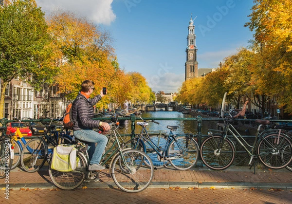
[[[182,86],[184,74],[164,73],[161,76],[148,76],[147,82],[152,91],[164,91],[165,93],[178,93],[178,88]]]

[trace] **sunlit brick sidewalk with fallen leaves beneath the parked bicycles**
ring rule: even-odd
[[[187,171],[163,168],[154,171],[149,188],[198,187],[198,188],[274,188],[292,189],[292,172],[283,169],[257,169],[254,167],[229,167],[223,171],[210,170],[206,167],[193,167]],[[83,183],[81,187],[104,188],[116,187],[110,178],[109,170],[100,172],[100,181]],[[0,189],[6,187],[5,179],[0,179]],[[9,173],[9,189],[53,189],[56,188],[50,179],[47,167],[35,173],[27,173],[19,168]]]

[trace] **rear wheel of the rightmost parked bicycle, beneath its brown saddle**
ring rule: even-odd
[[[267,167],[279,169],[286,167],[292,160],[291,140],[283,134],[268,134],[257,146],[259,160]]]

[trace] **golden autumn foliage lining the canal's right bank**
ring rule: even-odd
[[[216,72],[185,81],[177,100],[216,106],[228,92],[237,108],[246,96],[265,111],[266,102],[276,96],[279,107],[292,113],[292,1],[254,2],[245,24],[255,32],[251,45],[226,57]]]

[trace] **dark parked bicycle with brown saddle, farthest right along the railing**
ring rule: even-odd
[[[283,130],[264,130],[260,132],[262,126],[270,123],[269,120],[256,120],[258,123],[256,136],[253,145],[238,133],[232,125],[233,119],[245,114],[247,102],[241,111],[231,109],[224,117],[225,100],[222,101],[221,117],[223,118],[223,130],[209,130],[207,137],[201,144],[200,154],[202,162],[209,168],[223,170],[230,167],[234,161],[236,148],[232,140],[228,137],[231,134],[238,144],[247,152],[250,157],[248,165],[251,166],[254,158],[259,160],[269,168],[279,169],[286,167],[292,160],[292,142]],[[219,133],[213,134],[213,131]],[[251,150],[249,150],[251,148]]]

